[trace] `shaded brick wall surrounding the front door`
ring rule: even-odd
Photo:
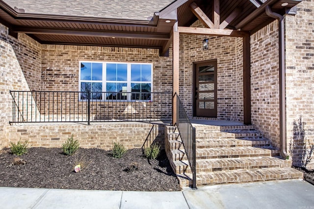
[[[191,26],[204,27],[200,21]],[[217,118],[243,121],[242,38],[207,37],[209,50],[203,50],[205,36],[181,35],[184,53],[180,53],[184,105],[192,116],[193,62],[217,59]]]

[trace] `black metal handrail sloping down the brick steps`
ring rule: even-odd
[[[196,188],[196,132],[190,122],[180,97],[177,97],[177,127],[183,142],[185,154],[187,156],[192,171],[193,185]]]

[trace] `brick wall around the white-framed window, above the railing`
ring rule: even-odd
[[[172,92],[172,57],[159,57],[158,49],[101,46],[42,46],[42,88],[78,91],[78,62],[153,63],[153,91]]]

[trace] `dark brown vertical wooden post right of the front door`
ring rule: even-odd
[[[243,37],[243,123],[251,124],[251,46],[250,36]]]

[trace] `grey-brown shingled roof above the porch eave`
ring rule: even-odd
[[[3,0],[26,14],[151,20],[174,0]]]

